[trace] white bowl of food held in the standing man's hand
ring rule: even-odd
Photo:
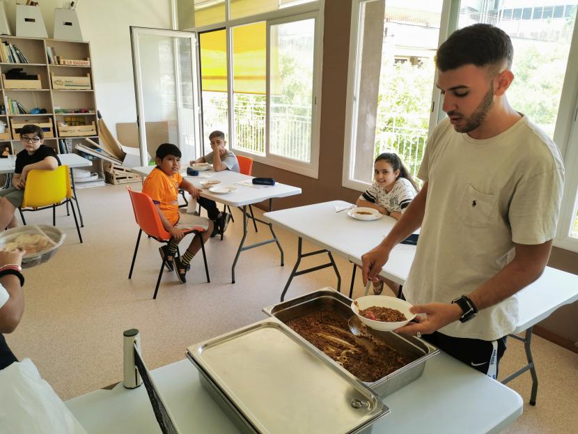
[[[416,317],[405,300],[388,295],[366,295],[351,304],[352,311],[367,327],[391,332],[403,327]]]

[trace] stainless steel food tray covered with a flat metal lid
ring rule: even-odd
[[[187,357],[243,433],[370,433],[389,408],[304,342],[267,318],[190,346]]]

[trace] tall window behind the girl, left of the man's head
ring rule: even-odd
[[[354,82],[347,101],[354,104],[348,107],[345,187],[366,189],[373,160],[383,152],[397,153],[413,176],[419,170],[430,123],[442,0],[421,3],[425,10],[405,3],[359,2],[352,24],[356,45],[350,47]]]

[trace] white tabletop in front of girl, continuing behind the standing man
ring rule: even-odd
[[[313,244],[361,264],[361,255],[375,247],[396,221],[391,217],[361,221],[352,219],[347,210],[335,212],[335,206],[347,206],[344,201],[265,212],[265,219],[295,233]],[[414,260],[415,247],[398,245],[384,265],[383,277],[404,284]],[[578,276],[546,267],[542,276],[517,293],[519,318],[515,333],[547,318],[550,313],[578,300]]]

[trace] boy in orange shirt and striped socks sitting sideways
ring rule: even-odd
[[[184,180],[180,174],[180,149],[173,144],[162,144],[157,148],[157,166],[146,177],[143,183],[143,193],[153,199],[157,207],[163,227],[171,234],[169,245],[159,248],[161,256],[167,253],[167,261],[171,270],[174,268],[180,283],[187,279],[187,270],[192,258],[201,249],[201,240],[195,235],[185,254],[178,257],[177,246],[185,236],[181,229],[202,228],[203,240],[206,242],[212,233],[212,222],[205,217],[187,214],[178,208],[178,191],[183,189],[195,199],[198,198],[198,189]]]

